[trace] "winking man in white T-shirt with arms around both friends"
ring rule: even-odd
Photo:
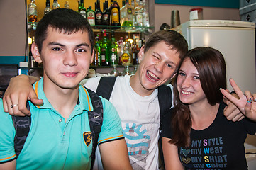
[[[109,101],[121,117],[123,135],[133,169],[159,169],[160,107],[157,87],[174,76],[187,49],[187,41],[182,35],[173,30],[160,30],[152,34],[140,49],[140,65],[135,75],[116,79]],[[27,98],[35,103],[42,102],[30,88],[28,77],[24,77],[26,76],[12,79],[6,91],[5,109],[10,114],[29,114],[25,106]],[[33,82],[32,79],[30,78],[30,81]],[[96,91],[99,78],[88,79],[82,83]],[[18,103],[18,107],[10,108],[11,103]],[[228,108],[226,111],[229,115],[233,110]],[[101,169],[100,164],[95,166]]]

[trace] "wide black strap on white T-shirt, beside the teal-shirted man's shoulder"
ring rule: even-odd
[[[96,90],[96,94],[109,100],[115,81],[116,77],[101,77],[101,79],[99,80],[99,85]]]

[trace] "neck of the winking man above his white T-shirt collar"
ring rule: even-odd
[[[132,77],[130,77],[130,86],[133,88],[133,91],[135,91],[136,94],[143,97],[150,96],[150,94],[152,94],[152,92],[155,90],[155,89],[152,89],[152,90],[145,89],[141,85],[138,72],[136,72]]]

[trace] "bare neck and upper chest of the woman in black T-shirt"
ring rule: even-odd
[[[218,106],[219,103],[211,106],[207,100],[196,105],[189,105],[192,128],[195,130],[204,130],[205,128],[208,128],[216,118]]]

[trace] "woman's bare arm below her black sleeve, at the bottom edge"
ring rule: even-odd
[[[162,152],[165,159],[165,169],[183,170],[182,163],[179,160],[177,146],[169,143],[169,138],[162,137]]]

